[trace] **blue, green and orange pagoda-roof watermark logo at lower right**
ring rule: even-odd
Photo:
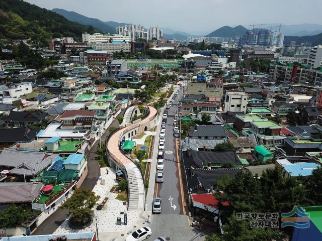
[[[310,226],[309,213],[300,211],[294,206],[290,212],[282,212],[282,227],[308,228]]]

